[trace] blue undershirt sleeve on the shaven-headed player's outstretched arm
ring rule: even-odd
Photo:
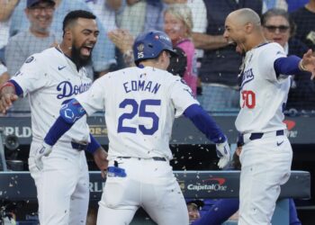
[[[275,73],[278,75],[295,75],[301,72],[299,68],[301,58],[289,56],[275,59]]]

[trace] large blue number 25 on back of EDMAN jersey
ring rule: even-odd
[[[137,128],[123,126],[122,122],[124,120],[131,120],[133,117],[139,114],[139,117],[150,118],[152,119],[152,127],[146,128],[144,125],[139,125],[139,130],[145,135],[153,135],[158,129],[159,118],[155,112],[148,112],[147,106],[150,105],[161,105],[161,100],[157,99],[145,99],[140,103],[137,103],[136,100],[127,98],[123,100],[120,104],[120,108],[126,108],[127,105],[130,105],[132,110],[131,112],[126,112],[121,114],[118,119],[118,129],[117,132],[127,132],[127,133],[137,133]]]

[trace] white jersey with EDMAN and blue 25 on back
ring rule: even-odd
[[[198,103],[179,76],[153,67],[130,67],[97,79],[76,97],[87,114],[105,110],[109,157],[172,158],[175,116]]]

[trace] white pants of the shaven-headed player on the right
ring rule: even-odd
[[[285,135],[268,132],[245,140],[241,162],[238,225],[269,225],[280,194],[291,173],[293,151]]]

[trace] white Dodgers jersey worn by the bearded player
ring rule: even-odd
[[[61,104],[85,92],[92,84],[85,68],[77,72],[75,64],[56,48],[27,58],[12,80],[21,86],[24,96],[29,94],[32,137],[40,140],[58,118]],[[76,121],[60,140],[71,139],[89,140],[86,116]]]

